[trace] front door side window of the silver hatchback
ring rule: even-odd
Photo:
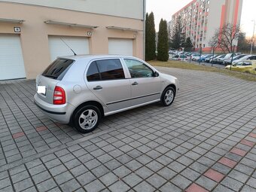
[[[143,62],[134,59],[124,59],[132,78],[150,78],[154,77],[154,72]]]

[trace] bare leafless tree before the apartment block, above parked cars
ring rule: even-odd
[[[224,53],[226,51],[231,53],[233,44],[238,41],[240,32],[241,30],[239,26],[227,23],[222,26],[221,29],[217,29],[215,31],[215,34],[212,36],[209,44],[211,44],[211,46],[217,45],[215,47],[221,48]]]

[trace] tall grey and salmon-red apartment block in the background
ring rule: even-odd
[[[172,15],[172,29],[181,17],[184,34],[195,50],[210,52],[209,41],[225,23],[239,25],[243,0],[194,0]]]

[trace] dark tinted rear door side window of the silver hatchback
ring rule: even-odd
[[[94,61],[87,71],[87,81],[105,81],[123,79],[123,67],[119,59]]]

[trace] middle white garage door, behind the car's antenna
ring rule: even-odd
[[[88,38],[49,36],[51,61],[55,60],[57,56],[70,56],[74,54],[62,40],[65,41],[77,55],[89,54]]]

